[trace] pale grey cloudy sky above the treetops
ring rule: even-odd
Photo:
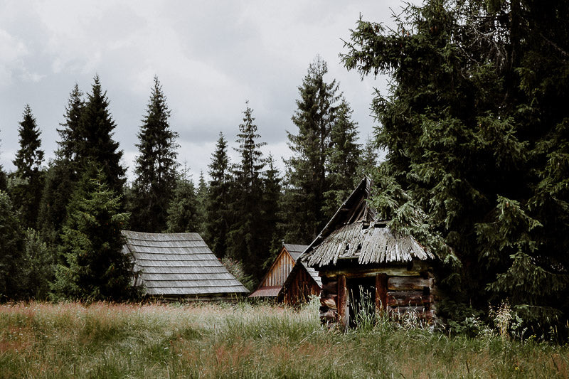
[[[100,76],[115,139],[132,178],[136,134],[154,75],[179,132],[179,161],[194,180],[207,171],[219,132],[235,146],[248,100],[267,142],[288,157],[286,132],[298,86],[319,54],[328,80],[353,108],[362,142],[373,132],[369,104],[385,78],[365,78],[340,63],[342,39],[359,15],[390,23],[400,0],[373,1],[21,1],[0,0],[0,163],[14,169],[18,122],[29,104],[53,158],[69,92],[89,92]],[[282,167],[280,163],[280,167]]]

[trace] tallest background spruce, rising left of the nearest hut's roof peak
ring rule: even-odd
[[[312,241],[326,222],[323,213],[324,193],[329,190],[326,151],[339,100],[336,80],[324,80],[327,72],[326,62],[317,56],[299,87],[298,109],[292,117],[298,134],[287,132],[294,156],[285,162],[285,238],[297,243]]]

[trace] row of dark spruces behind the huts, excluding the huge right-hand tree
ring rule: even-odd
[[[363,172],[376,166],[373,142],[358,144],[351,108],[317,56],[299,85],[288,132],[294,152],[281,173],[264,156],[245,102],[233,144],[220,133],[198,182],[177,161],[178,133],[158,78],[137,134],[127,183],[110,100],[95,76],[70,92],[55,159],[44,165],[41,132],[26,105],[16,169],[1,173],[1,299],[132,299],[131,262],[120,230],[200,233],[250,287],[282,240],[307,244]],[[228,158],[234,149],[238,159]]]

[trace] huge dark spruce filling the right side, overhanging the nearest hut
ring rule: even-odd
[[[387,151],[374,203],[456,252],[441,274],[450,316],[508,299],[533,331],[567,325],[568,12],[565,1],[427,1],[393,31],[360,20],[346,43],[346,67],[392,75],[390,96],[373,100]]]

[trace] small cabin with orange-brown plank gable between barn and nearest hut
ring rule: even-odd
[[[283,284],[292,272],[293,267],[307,245],[294,245],[292,243],[283,243],[282,249],[272,262],[270,269],[262,278],[259,287],[249,295],[250,298],[279,298]],[[282,299],[281,299],[282,301]]]

